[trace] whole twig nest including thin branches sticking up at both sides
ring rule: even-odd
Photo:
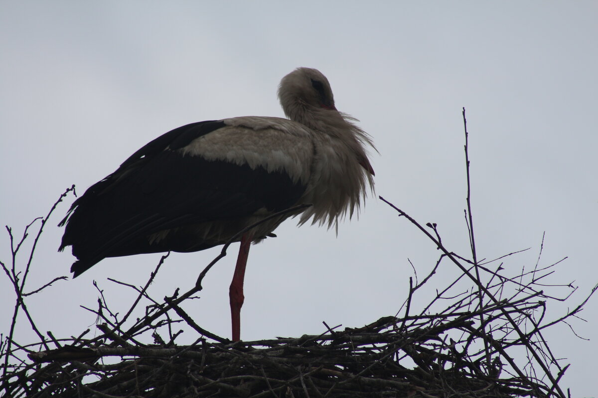
[[[463,113],[463,116],[465,114]],[[467,156],[467,145],[466,156]],[[467,171],[469,175],[469,162]],[[97,315],[101,334],[86,338],[47,337],[39,332],[25,302],[57,282],[24,294],[25,277],[35,242],[60,200],[45,218],[26,227],[13,248],[13,263],[1,263],[17,294],[11,330],[0,341],[0,391],[10,397],[538,397],[566,398],[569,391],[560,380],[563,365],[550,350],[542,332],[567,323],[596,291],[556,320],[547,321],[547,303],[568,300],[576,288],[561,297],[549,295],[549,266],[528,267],[517,275],[505,275],[501,266],[512,252],[495,260],[476,258],[471,208],[468,208],[471,260],[447,249],[436,224],[422,226],[392,203],[399,216],[434,242],[440,251],[437,262],[419,280],[414,268],[408,295],[399,314],[360,328],[330,328],[321,335],[300,338],[231,342],[197,325],[182,309],[185,300],[202,289],[205,273],[228,245],[200,274],[190,291],[155,300],[148,287],[160,270],[162,257],[144,286],[129,286],[138,293],[124,316],[111,311],[103,291],[99,307],[87,308]],[[469,178],[468,178],[469,192]],[[31,232],[39,226],[36,234]],[[8,229],[11,242],[13,235]],[[242,233],[242,232],[240,232]],[[17,251],[28,236],[36,236],[25,266],[17,264]],[[542,245],[544,239],[542,239]],[[540,253],[542,251],[542,246]],[[538,257],[539,261],[539,257]],[[429,288],[441,263],[459,270],[441,288]],[[498,265],[496,265],[498,264]],[[425,288],[424,288],[425,287]],[[430,294],[430,292],[434,292]],[[411,306],[418,294],[429,297],[423,308]],[[564,297],[563,297],[564,296]],[[142,303],[147,303],[145,308]],[[141,308],[139,308],[141,307]],[[131,320],[139,308],[144,316]],[[24,313],[39,341],[19,344],[14,338],[17,314]],[[184,326],[199,336],[193,344],[175,340]],[[567,323],[568,326],[569,323]],[[151,343],[148,343],[151,342]],[[51,346],[54,347],[51,347]],[[567,393],[565,393],[567,391]]]

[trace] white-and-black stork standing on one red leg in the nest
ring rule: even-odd
[[[195,252],[240,242],[229,289],[240,340],[243,279],[251,243],[286,218],[335,227],[374,191],[373,141],[339,112],[328,79],[298,67],[280,81],[286,118],[242,116],[191,123],[133,153],[77,198],[59,226],[73,277],[108,257]],[[303,203],[311,206],[273,214]]]

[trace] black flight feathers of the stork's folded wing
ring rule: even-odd
[[[59,224],[66,224],[60,250],[72,245],[79,259],[71,267],[74,276],[106,257],[203,250],[222,242],[202,242],[185,227],[297,202],[305,187],[284,172],[175,152],[223,126],[207,121],[167,132],[75,200]],[[168,239],[150,244],[150,235],[169,229],[176,230]]]

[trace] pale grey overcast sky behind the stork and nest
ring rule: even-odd
[[[539,264],[568,257],[547,282],[578,287],[569,302],[550,304],[553,319],[598,282],[596,2],[3,1],[0,9],[0,223],[15,235],[67,187],[82,194],[170,129],[282,117],[277,85],[298,66],[321,70],[337,109],[373,137],[376,193],[359,218],[341,223],[338,236],[289,220],[276,239],[252,247],[243,340],[319,334],[322,321],[356,327],[396,314],[413,276],[409,261],[422,276],[438,253],[377,195],[422,224],[437,223],[444,244],[469,255],[462,107],[478,257],[530,248],[505,260],[505,272],[517,274],[535,265],[545,234]],[[57,224],[72,200],[45,227],[31,289],[68,275],[74,258],[56,252]],[[5,263],[9,248],[3,232]],[[151,294],[187,290],[218,251],[172,254]],[[186,308],[225,337],[235,251]],[[104,260],[30,297],[28,306],[42,330],[76,335],[95,322],[80,308],[96,303],[92,280],[124,312],[132,293],[106,278],[141,285],[159,258]],[[436,283],[458,275],[446,263]],[[7,331],[7,280],[0,291],[0,330]],[[414,304],[428,303],[434,287],[419,295]],[[581,313],[587,322],[571,322],[590,341],[565,325],[545,335],[556,356],[572,363],[563,385],[573,396],[596,394],[596,300]],[[18,330],[27,340],[23,320]]]

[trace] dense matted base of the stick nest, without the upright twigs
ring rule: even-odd
[[[187,346],[140,346],[103,338],[91,347],[81,342],[30,354],[35,362],[50,365],[13,384],[38,397],[549,396],[547,385],[529,378],[500,378],[499,360],[485,363],[459,351],[456,342],[447,343],[451,331],[465,332],[468,339],[480,335],[477,317],[501,308],[385,317],[343,332],[228,344],[202,338]],[[108,356],[123,360],[102,365],[100,359]]]

